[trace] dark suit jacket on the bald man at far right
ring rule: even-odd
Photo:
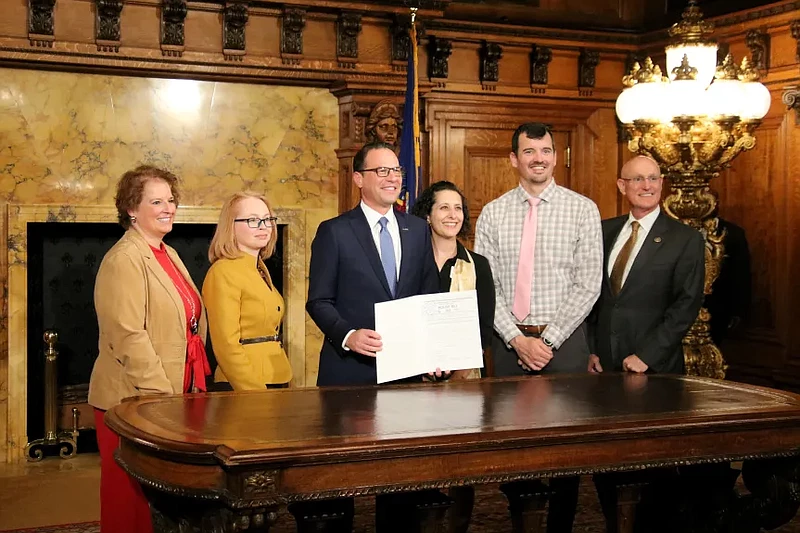
[[[592,353],[606,371],[622,370],[623,359],[636,354],[648,372],[683,373],[681,340],[703,302],[703,237],[662,211],[614,296],[608,256],[627,220],[603,221],[603,286],[588,321]]]

